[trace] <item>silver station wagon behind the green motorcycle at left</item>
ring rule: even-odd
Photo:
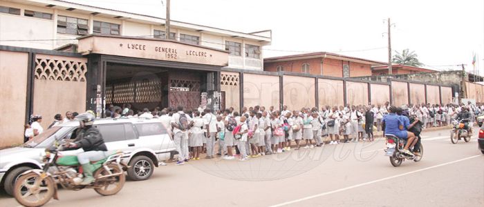
[[[78,121],[59,124],[19,147],[0,150],[0,186],[12,195],[19,175],[32,168],[42,168],[41,155],[45,148],[55,141],[75,139],[73,132],[78,126]],[[158,119],[96,119],[93,126],[100,130],[109,151],[122,150],[127,154],[122,161],[131,166],[127,174],[132,180],[149,179],[159,162],[176,154],[174,142]],[[83,150],[64,151],[63,155],[80,152]]]

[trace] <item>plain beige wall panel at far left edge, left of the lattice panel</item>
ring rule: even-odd
[[[0,148],[24,141],[28,53],[0,50]]]

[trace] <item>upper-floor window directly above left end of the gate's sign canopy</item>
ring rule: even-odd
[[[61,34],[88,34],[87,19],[57,16],[57,33]]]

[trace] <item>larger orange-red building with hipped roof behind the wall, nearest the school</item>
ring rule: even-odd
[[[266,58],[264,59],[264,70],[270,72],[301,72],[332,77],[362,77],[371,76],[371,67],[383,64],[386,63],[330,52],[313,52]]]

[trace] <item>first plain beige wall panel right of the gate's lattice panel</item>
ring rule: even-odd
[[[244,74],[243,106],[256,105],[279,108],[279,76]]]

